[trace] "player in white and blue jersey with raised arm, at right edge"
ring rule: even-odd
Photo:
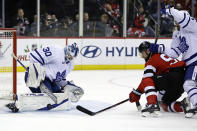
[[[182,60],[187,66],[183,87],[193,106],[188,112],[195,114],[197,112],[197,22],[187,11],[179,11],[169,5],[163,7],[161,12],[173,16],[178,30],[173,33],[170,49],[164,44],[151,44],[150,51],[165,53],[172,58],[178,58],[182,54]]]

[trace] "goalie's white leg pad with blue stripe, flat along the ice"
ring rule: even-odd
[[[18,95],[15,102],[19,111],[36,110],[69,110],[71,103],[64,93],[54,93],[57,98],[64,98],[60,103],[54,104],[53,100],[45,93],[28,93]]]

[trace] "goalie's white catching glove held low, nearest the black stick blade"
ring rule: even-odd
[[[73,81],[68,81],[67,85],[64,87],[64,92],[68,92],[68,97],[71,102],[78,102],[84,94],[83,89],[76,86]]]

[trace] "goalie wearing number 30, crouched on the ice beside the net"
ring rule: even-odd
[[[16,103],[7,107],[13,112],[18,109],[69,109],[69,102],[77,102],[84,94],[82,88],[66,80],[74,68],[73,60],[78,52],[76,43],[65,48],[49,45],[30,52],[31,64],[25,73],[25,82],[32,93],[18,95]],[[32,98],[34,100],[30,100]]]

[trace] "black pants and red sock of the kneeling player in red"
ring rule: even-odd
[[[158,101],[163,105],[165,111],[182,112],[180,102],[176,102],[184,92],[185,70],[183,67],[173,68],[168,73],[155,76],[154,83],[158,92]]]

